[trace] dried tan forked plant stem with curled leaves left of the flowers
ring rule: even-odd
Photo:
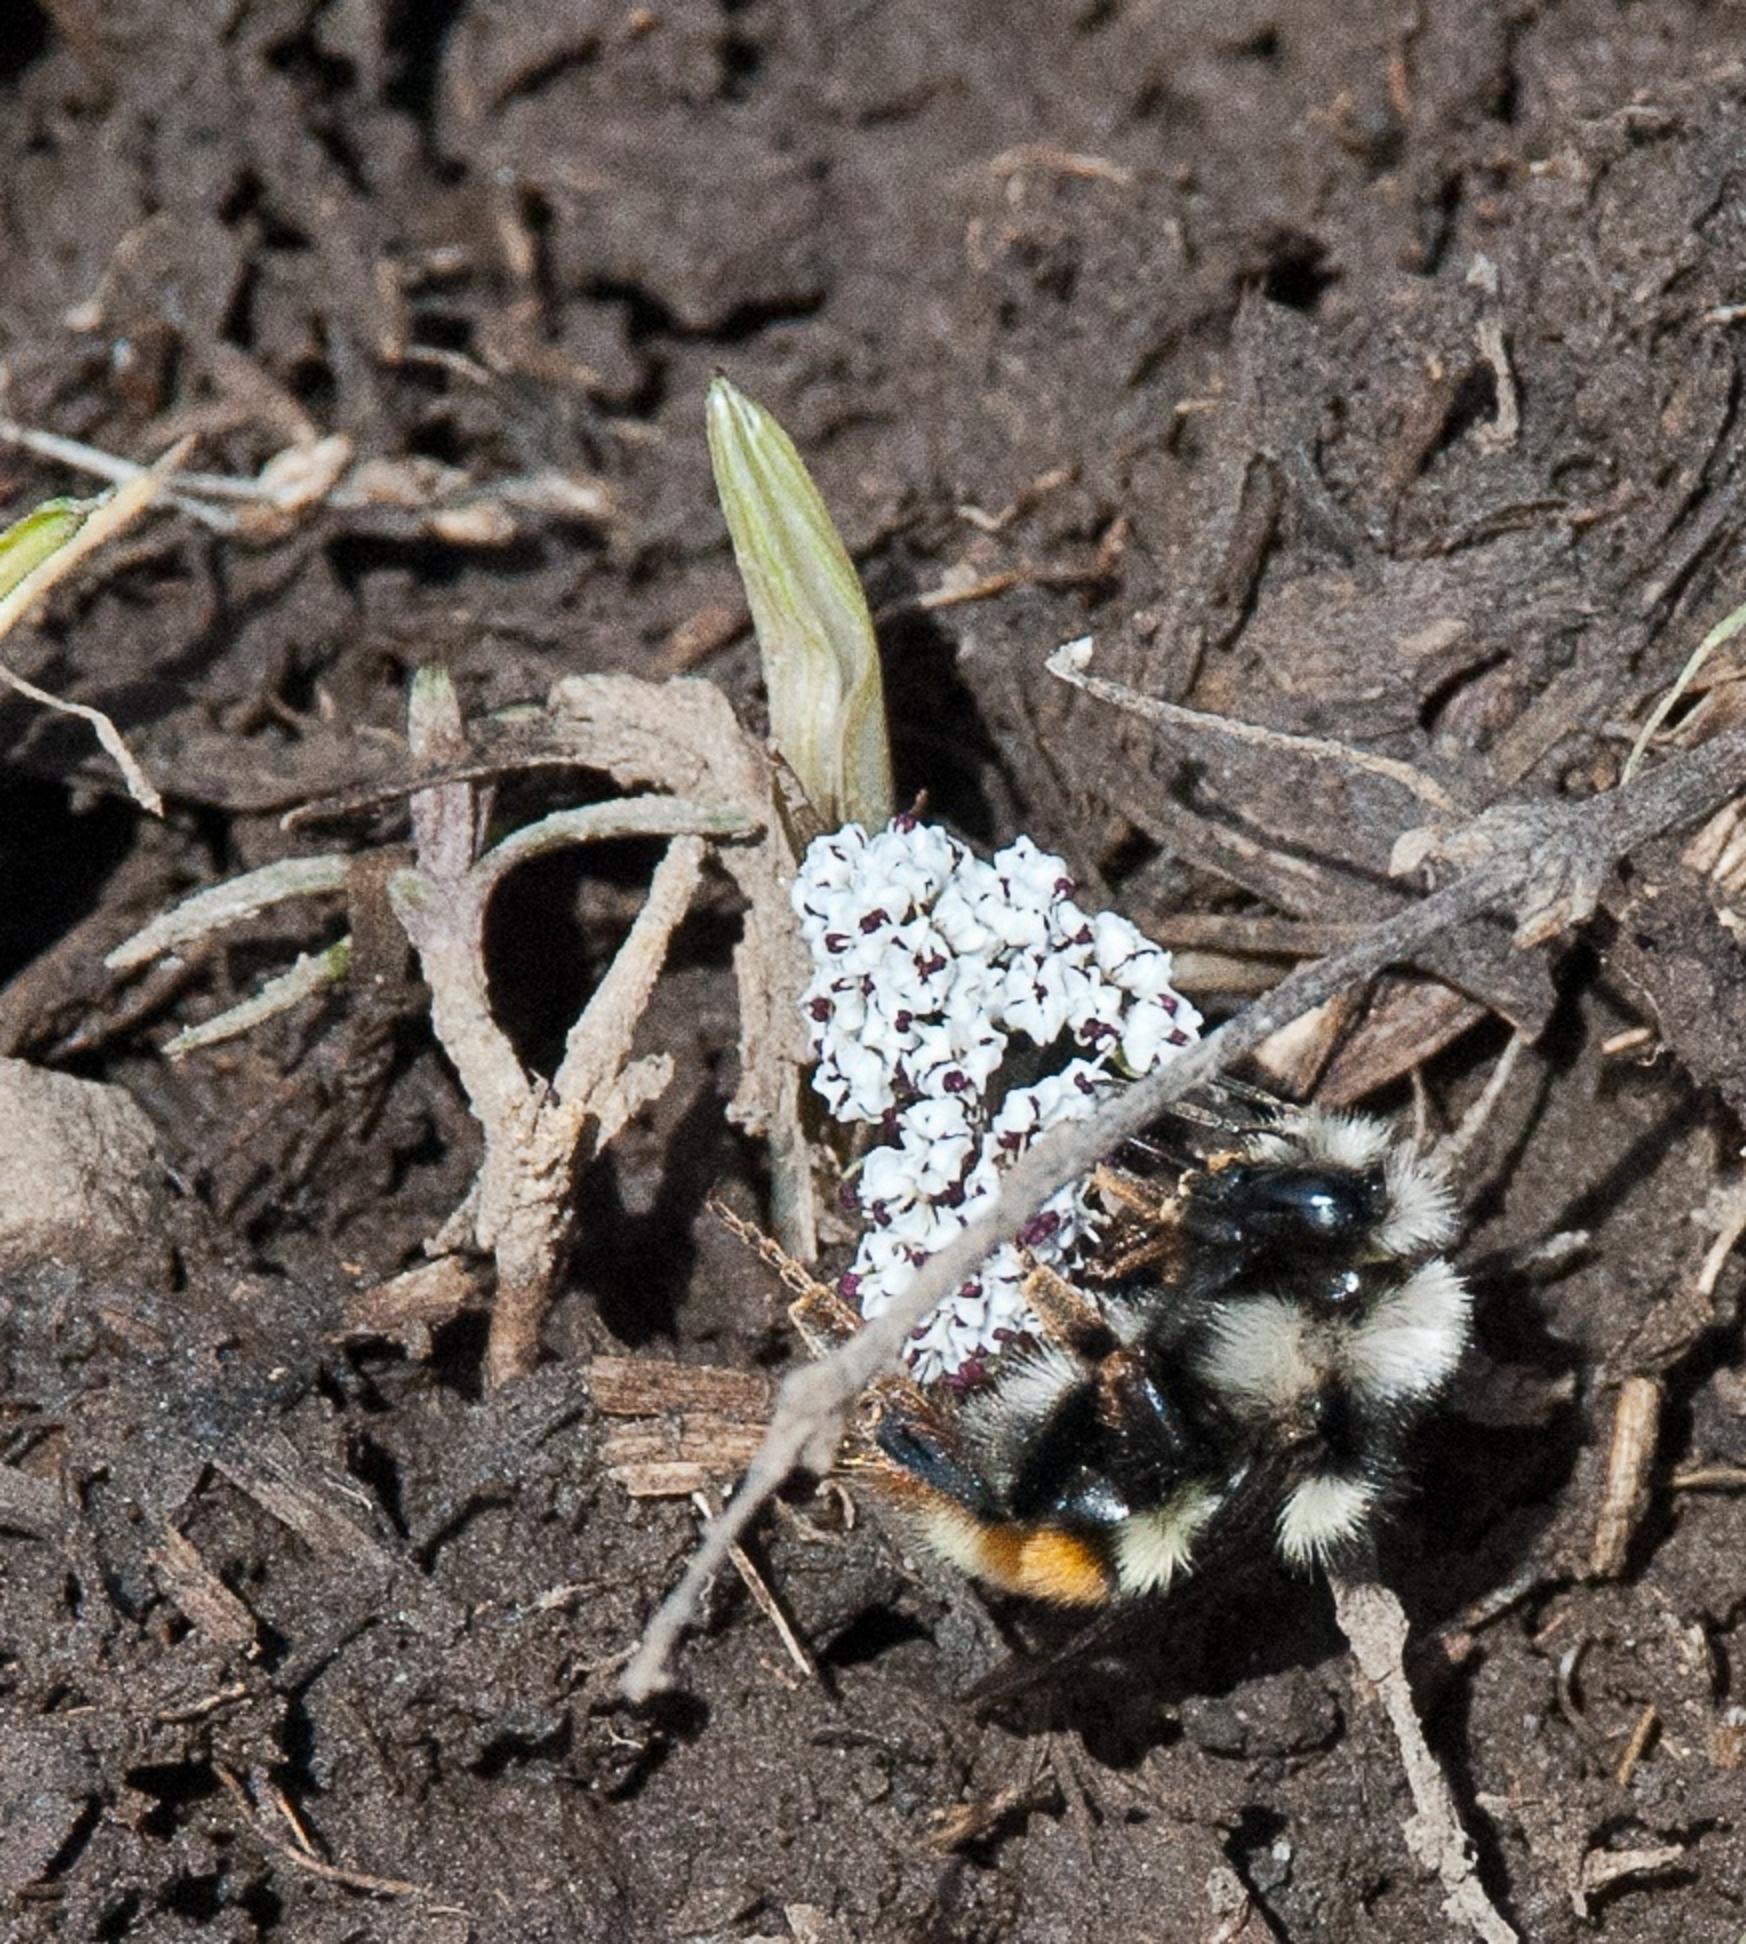
[[[521,750],[504,764],[480,764],[469,748],[447,675],[424,671],[416,677],[408,708],[416,781],[406,787],[414,863],[387,881],[389,902],[430,988],[434,1030],[484,1129],[478,1178],[428,1250],[437,1262],[472,1246],[494,1258],[498,1291],[486,1349],[494,1384],[527,1372],[537,1359],[541,1322],[568,1238],[576,1170],[673,1075],[667,1054],[634,1059],[632,1042],[669,941],[698,888],[706,840],[725,846],[723,867],[747,902],[735,953],[741,1085],[729,1116],[770,1143],[780,1232],[801,1256],[817,1248],[811,1155],[801,1128],[805,955],[787,910],[795,850],[770,758],[708,682],[579,677],[558,684],[548,721],[554,733],[541,754]],[[603,770],[624,789],[653,785],[659,793],[556,811],[484,850],[488,781],[517,760]],[[492,894],[531,857],[562,846],[638,836],[673,842],[630,935],[570,1028],[558,1071],[546,1083],[527,1073],[492,1011],[484,960]],[[360,859],[340,853],[266,865],[165,912],[107,962],[126,970],[288,898],[346,890],[358,869]],[[212,1044],[286,1011],[344,978],[350,956],[352,941],[340,937],[299,958],[241,1005],[181,1034],[171,1052]],[[416,1336],[439,1320],[443,1306],[453,1312],[469,1301],[471,1289],[471,1275],[426,1266],[416,1277],[373,1293],[352,1316],[352,1328]]]

